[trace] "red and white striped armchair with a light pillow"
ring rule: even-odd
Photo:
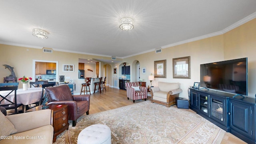
[[[148,98],[148,88],[145,86],[139,86],[139,82],[126,82],[126,94],[129,100],[132,99],[133,102],[135,100],[145,99]]]

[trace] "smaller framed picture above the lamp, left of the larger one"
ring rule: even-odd
[[[155,78],[166,78],[166,60],[154,61]]]

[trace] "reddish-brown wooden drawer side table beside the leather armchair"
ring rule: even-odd
[[[54,128],[53,142],[56,142],[56,137],[64,132],[64,130],[68,130],[68,105],[62,105],[60,108],[57,108],[57,104],[50,104],[48,106],[48,109],[52,110],[52,124]],[[30,108],[26,112],[37,110],[42,110],[42,105]]]

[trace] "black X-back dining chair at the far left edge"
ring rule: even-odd
[[[6,93],[1,93],[0,97],[2,100],[0,100],[0,106],[4,107],[6,110],[12,110],[14,109],[14,114],[18,113],[18,107],[22,106],[22,104],[17,104],[17,90],[18,90],[18,82],[12,82],[12,83],[0,83],[0,91],[6,91]],[[14,101],[8,99],[8,96],[14,92]],[[5,103],[8,104],[1,104],[1,102],[5,101]]]

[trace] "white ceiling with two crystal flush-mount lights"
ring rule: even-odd
[[[134,18],[133,30],[120,30],[123,16]],[[125,58],[255,17],[256,0],[0,0],[0,43]],[[32,36],[33,28],[48,39]]]

